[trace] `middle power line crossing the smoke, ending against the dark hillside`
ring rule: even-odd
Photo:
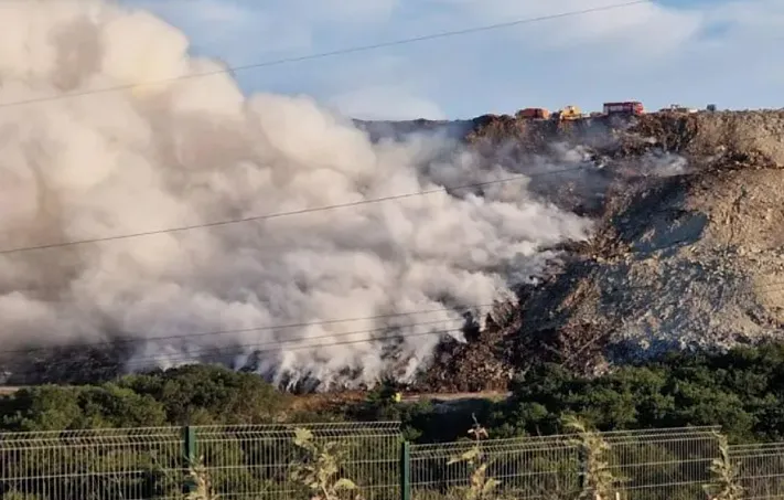
[[[472,184],[463,184],[463,185],[454,185],[454,187],[441,187],[441,188],[437,188],[437,189],[416,191],[416,192],[411,192],[411,193],[393,194],[389,196],[374,198],[374,199],[369,199],[369,200],[361,200],[361,201],[348,202],[348,203],[337,203],[334,205],[315,206],[312,209],[292,210],[292,211],[288,211],[288,212],[273,212],[273,213],[269,213],[269,214],[251,215],[251,216],[241,217],[241,219],[228,219],[228,220],[224,220],[224,221],[207,222],[207,223],[202,223],[202,224],[190,224],[190,225],[183,225],[183,226],[179,226],[179,227],[168,227],[168,228],[162,228],[162,230],[142,231],[139,233],[118,234],[118,235],[96,237],[96,238],[74,240],[74,241],[69,241],[69,242],[50,243],[50,244],[44,244],[44,245],[20,246],[20,247],[15,247],[15,248],[0,249],[0,255],[51,249],[51,248],[62,248],[62,247],[75,246],[75,245],[86,245],[86,244],[94,244],[94,243],[112,242],[112,241],[117,241],[117,240],[129,240],[129,238],[142,237],[142,236],[154,236],[154,235],[159,235],[159,234],[181,233],[181,232],[185,232],[185,231],[194,231],[194,230],[203,230],[203,228],[208,228],[208,227],[243,224],[243,223],[247,223],[247,222],[268,221],[271,219],[280,219],[280,217],[287,217],[287,216],[292,216],[292,215],[303,215],[303,214],[315,213],[315,212],[324,212],[324,211],[329,211],[329,210],[347,209],[347,208],[354,208],[354,206],[361,206],[361,205],[368,205],[368,204],[373,204],[373,203],[397,201],[397,200],[404,200],[407,198],[423,196],[423,195],[441,193],[441,192],[458,191],[458,190],[471,189],[471,188],[481,188],[481,187],[485,187],[485,185],[500,184],[500,183],[504,183],[504,182],[512,182],[512,181],[518,181],[518,180],[523,180],[523,179],[529,179],[531,177],[551,175],[551,174],[556,174],[556,173],[572,172],[572,171],[582,170],[582,169],[584,169],[584,167],[571,167],[568,169],[549,170],[549,171],[538,172],[538,173],[535,172],[535,173],[524,173],[524,174],[518,174],[518,175],[512,175],[512,177],[508,177],[505,179],[498,179],[498,180],[494,180],[494,181],[475,182]]]

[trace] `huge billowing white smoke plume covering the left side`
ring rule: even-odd
[[[98,0],[1,2],[0,103],[221,68],[187,50],[180,31],[143,11]],[[513,175],[480,171],[454,148],[421,137],[374,145],[308,98],[247,97],[227,74],[8,106],[0,113],[0,249]],[[243,363],[258,345],[258,370],[278,381],[330,383],[351,371],[353,381],[369,382],[390,361],[387,342],[364,341],[379,334],[367,330],[394,327],[396,362],[410,376],[439,339],[412,333],[454,330],[458,311],[264,327],[490,304],[509,277],[540,268],[543,245],[589,230],[589,221],[535,201],[525,182],[508,182],[482,195],[441,192],[7,253],[0,345],[136,336],[129,366],[137,368],[237,345],[244,355],[233,361]],[[248,330],[198,334],[236,329]],[[280,344],[300,338],[323,347]]]

